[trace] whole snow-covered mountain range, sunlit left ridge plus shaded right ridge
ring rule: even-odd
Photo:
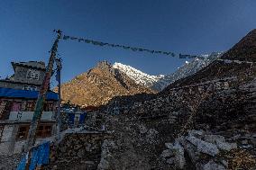
[[[146,73],[143,73],[142,71],[134,67],[123,65],[122,63],[114,63],[113,67],[125,73],[137,84],[150,87],[151,89],[156,91],[161,91],[166,86],[175,82],[176,80],[183,78],[185,76],[195,74],[203,67],[208,66],[216,58],[220,58],[222,54],[223,53],[213,52],[212,54],[201,55],[202,57],[204,57],[204,59],[195,58],[190,62],[186,61],[186,63],[183,66],[178,67],[178,70],[176,72],[166,76],[151,76]]]

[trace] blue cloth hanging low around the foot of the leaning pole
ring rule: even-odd
[[[50,142],[43,143],[37,148],[33,148],[30,170],[34,170],[37,166],[49,164],[49,158],[50,158]],[[24,170],[26,166],[26,161],[27,161],[27,156],[22,158],[16,170]]]

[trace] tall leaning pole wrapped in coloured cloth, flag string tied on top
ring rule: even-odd
[[[26,170],[29,170],[29,166],[31,164],[32,147],[36,139],[36,130],[39,122],[41,121],[41,114],[43,111],[46,94],[48,92],[49,85],[50,85],[50,76],[52,74],[52,68],[53,68],[54,60],[56,58],[59,39],[61,38],[61,31],[58,30],[56,32],[58,33],[58,35],[52,45],[52,48],[50,49],[50,58],[49,58],[48,66],[47,66],[44,79],[41,85],[41,90],[39,92],[39,95],[36,101],[35,110],[33,113],[32,122],[29,130],[28,140],[25,146],[25,153],[28,154],[28,159],[27,159],[26,168],[25,168]]]

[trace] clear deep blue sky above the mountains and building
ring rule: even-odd
[[[11,61],[42,60],[64,34],[147,49],[206,54],[225,51],[256,28],[255,0],[1,0],[0,76]],[[60,41],[63,81],[100,60],[121,62],[158,75],[186,59]]]

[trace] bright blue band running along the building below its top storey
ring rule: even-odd
[[[39,92],[0,87],[0,97],[37,99]],[[58,94],[47,93],[46,100],[58,100]]]

